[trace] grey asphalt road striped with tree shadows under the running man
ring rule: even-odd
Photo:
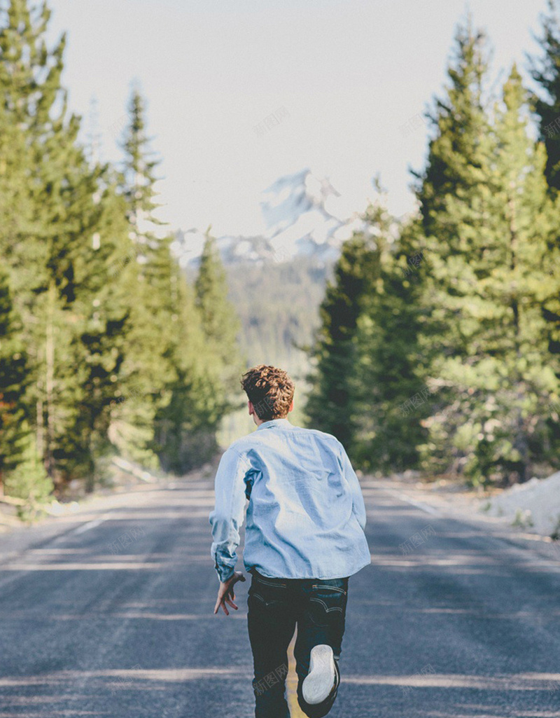
[[[363,488],[373,565],[330,715],[560,716],[560,561]],[[211,480],[178,481],[1,535],[0,718],[252,717],[249,582],[213,615],[211,508]]]

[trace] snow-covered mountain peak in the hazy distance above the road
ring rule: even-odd
[[[279,177],[263,191],[260,203],[266,232],[255,237],[219,237],[216,246],[223,263],[281,263],[308,256],[331,264],[353,232],[366,230],[357,213],[345,216],[339,199],[340,192],[330,180],[316,177],[310,169]],[[197,228],[177,232],[175,250],[182,264],[199,264],[204,241],[204,233]]]

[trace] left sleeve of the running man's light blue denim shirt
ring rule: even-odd
[[[215,508],[210,513],[213,544],[210,554],[220,581],[233,576],[239,546],[239,529],[245,513],[245,477],[248,459],[231,447],[226,449],[215,477]]]

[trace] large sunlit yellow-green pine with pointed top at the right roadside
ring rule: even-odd
[[[546,266],[554,213],[543,146],[527,135],[525,95],[513,67],[490,154],[477,162],[485,181],[465,195],[466,206],[457,192],[438,211],[439,226],[457,232],[456,250],[431,241],[428,253],[424,302],[436,304],[442,327],[431,376],[443,391],[426,420],[426,465],[473,482],[531,476],[550,444],[546,406],[558,392],[543,319],[559,289]]]

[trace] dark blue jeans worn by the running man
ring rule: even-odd
[[[309,718],[322,718],[335,702],[330,698],[310,706],[302,696],[309,673],[309,654],[315,645],[332,647],[338,666],[344,634],[348,579],[271,579],[252,569],[248,630],[255,679],[256,718],[289,718],[284,698],[288,673],[287,648],[297,625],[294,648],[298,676],[297,699]]]

